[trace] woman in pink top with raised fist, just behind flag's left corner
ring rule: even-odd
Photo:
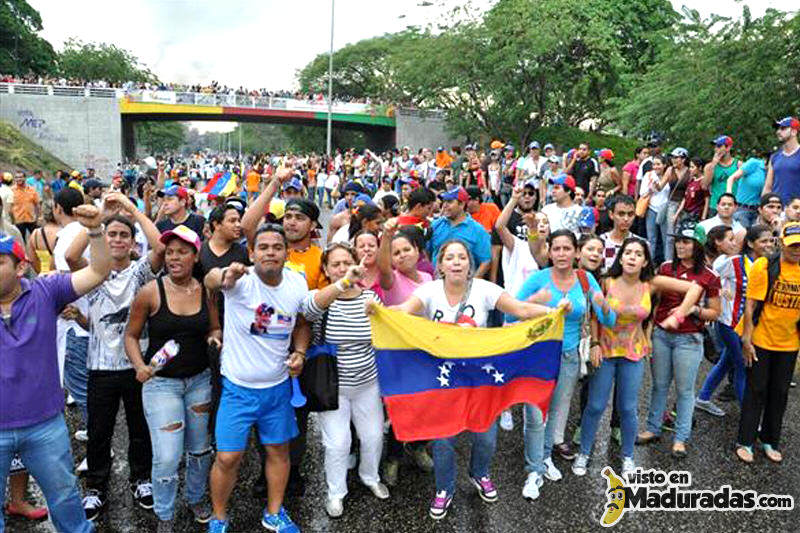
[[[398,231],[393,220],[384,225],[377,260],[384,305],[402,304],[414,289],[433,279],[418,270],[420,253],[416,240],[403,230]]]

